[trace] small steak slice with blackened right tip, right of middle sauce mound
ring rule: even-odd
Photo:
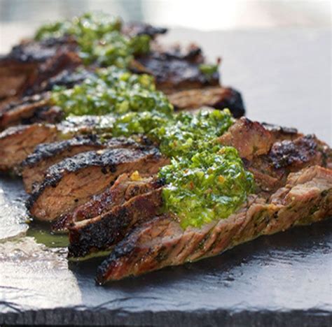
[[[235,118],[244,115],[244,103],[240,92],[230,87],[205,87],[174,92],[168,96],[177,110],[197,109],[208,106],[216,109],[228,108]]]

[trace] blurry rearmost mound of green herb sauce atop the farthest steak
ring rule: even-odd
[[[43,25],[35,34],[36,41],[46,38],[73,37],[79,45],[85,64],[125,68],[134,54],[149,52],[151,38],[132,38],[121,33],[120,18],[102,13],[85,13],[71,21]]]

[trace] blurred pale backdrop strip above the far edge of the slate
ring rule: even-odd
[[[43,22],[89,10],[203,31],[331,26],[331,1],[319,0],[0,0],[0,52]]]

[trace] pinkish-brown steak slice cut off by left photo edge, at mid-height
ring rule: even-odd
[[[57,128],[50,124],[18,125],[0,133],[0,171],[18,168],[41,143],[57,139]],[[19,170],[19,168],[18,168]]]

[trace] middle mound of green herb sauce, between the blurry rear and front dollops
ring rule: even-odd
[[[155,90],[149,75],[134,75],[116,67],[99,69],[94,77],[72,89],[55,88],[51,101],[67,115],[123,115],[152,111],[170,114],[173,106]]]

